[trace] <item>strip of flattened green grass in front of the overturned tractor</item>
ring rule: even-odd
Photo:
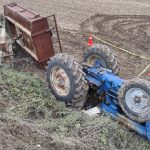
[[[51,134],[77,139],[90,149],[150,149],[145,139],[108,116],[88,117],[66,108],[45,81],[28,73],[1,67],[0,100],[6,105],[5,113],[28,119]]]

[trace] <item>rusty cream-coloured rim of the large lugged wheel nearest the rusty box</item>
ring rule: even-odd
[[[70,90],[70,80],[65,70],[59,66],[52,68],[50,79],[55,92],[60,96],[66,96]]]

